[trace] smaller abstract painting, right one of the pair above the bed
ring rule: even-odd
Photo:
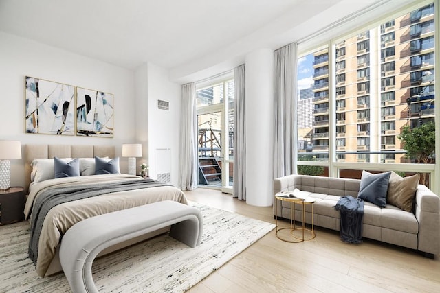
[[[76,135],[113,137],[113,95],[76,88]]]

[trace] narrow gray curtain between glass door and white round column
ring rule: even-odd
[[[245,65],[236,67],[234,74],[234,184],[232,196],[239,200],[246,200]]]

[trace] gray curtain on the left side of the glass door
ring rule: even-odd
[[[180,165],[179,187],[182,190],[197,188],[197,116],[195,84],[181,86]]]

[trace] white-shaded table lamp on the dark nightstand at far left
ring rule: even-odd
[[[0,190],[8,190],[11,185],[12,159],[21,159],[20,141],[0,140]]]

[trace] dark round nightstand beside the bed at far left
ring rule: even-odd
[[[20,222],[24,218],[25,189],[10,187],[0,191],[0,225]]]

